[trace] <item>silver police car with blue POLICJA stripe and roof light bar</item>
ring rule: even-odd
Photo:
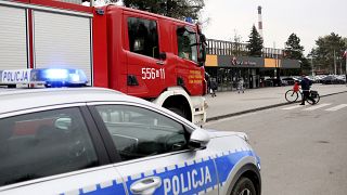
[[[78,70],[51,72],[0,78],[12,87],[87,83]],[[261,187],[246,134],[204,130],[102,88],[0,89],[0,194],[259,195]]]

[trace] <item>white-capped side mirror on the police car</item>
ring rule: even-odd
[[[191,150],[204,150],[209,142],[208,133],[203,129],[196,129],[192,132],[189,139],[189,148]]]

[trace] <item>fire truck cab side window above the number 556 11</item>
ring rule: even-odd
[[[158,31],[155,21],[129,17],[128,35],[131,52],[159,57]]]

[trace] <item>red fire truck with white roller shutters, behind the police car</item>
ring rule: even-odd
[[[89,84],[206,120],[196,25],[117,5],[0,0],[0,69],[79,68]]]

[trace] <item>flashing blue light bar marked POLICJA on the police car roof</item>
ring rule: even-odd
[[[86,86],[88,79],[80,69],[35,68],[0,70],[2,84],[44,84],[46,87]]]

